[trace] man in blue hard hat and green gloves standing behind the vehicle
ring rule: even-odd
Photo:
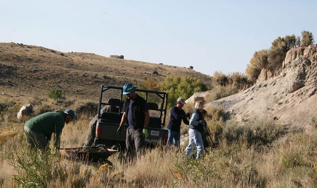
[[[148,125],[150,114],[147,101],[135,93],[136,86],[126,83],[123,86],[123,94],[127,96],[123,104],[123,116],[117,130],[120,135],[122,126],[127,122],[126,148],[130,157],[140,157],[142,149],[145,146],[145,138],[148,137]]]

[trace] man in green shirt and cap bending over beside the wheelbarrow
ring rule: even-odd
[[[52,134],[55,133],[55,148],[59,149],[60,135],[66,124],[75,118],[72,109],[65,111],[57,110],[56,112],[46,112],[37,117],[28,120],[24,124],[26,140],[32,148],[45,150],[51,140]]]

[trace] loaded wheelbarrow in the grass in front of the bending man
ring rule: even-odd
[[[59,155],[68,160],[81,160],[85,162],[99,162],[108,164],[111,164],[111,162],[107,160],[108,157],[117,152],[117,150],[105,148],[104,146],[71,147],[59,149]]]

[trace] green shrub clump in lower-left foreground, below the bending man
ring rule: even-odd
[[[84,187],[91,177],[91,170],[81,171],[80,163],[67,166],[57,156],[56,151],[39,152],[22,144],[20,149],[11,150],[5,156],[17,174],[13,180],[19,187],[48,187],[56,182],[67,183],[71,187]]]

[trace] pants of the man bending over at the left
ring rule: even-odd
[[[45,150],[47,148],[48,140],[43,133],[34,132],[25,126],[24,132],[26,135],[26,141],[31,145],[31,147],[38,148],[41,150]]]

